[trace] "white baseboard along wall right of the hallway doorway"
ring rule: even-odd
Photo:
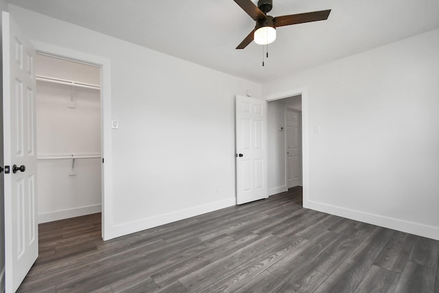
[[[305,198],[303,200],[303,207],[316,211],[322,211],[323,213],[330,213],[331,215],[338,215],[351,220],[394,229],[396,231],[439,240],[439,228],[434,226],[427,226],[424,224],[389,218],[383,215],[375,215],[373,213],[365,213],[363,211],[355,211],[353,209],[337,207],[331,204],[322,204],[321,202],[305,200]]]

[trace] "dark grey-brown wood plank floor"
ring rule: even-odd
[[[103,242],[40,225],[18,292],[439,292],[439,242],[302,208],[300,188]]]

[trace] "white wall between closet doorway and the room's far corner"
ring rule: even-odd
[[[111,61],[112,237],[235,204],[235,95],[261,86],[10,5],[39,42]],[[104,126],[104,128],[110,126]]]

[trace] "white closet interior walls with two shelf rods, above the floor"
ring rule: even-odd
[[[101,67],[36,54],[38,223],[102,211]]]

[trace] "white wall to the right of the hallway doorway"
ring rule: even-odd
[[[434,30],[263,84],[307,92],[304,206],[439,239],[438,76]]]

